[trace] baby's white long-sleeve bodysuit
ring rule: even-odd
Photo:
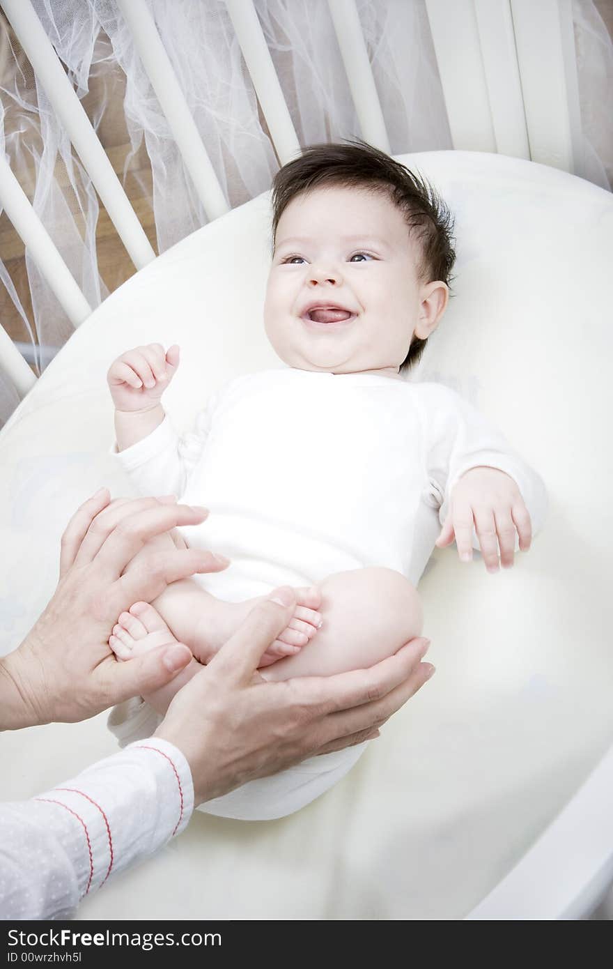
[[[457,393],[374,374],[241,377],[212,398],[183,440],[166,418],[117,457],[141,493],[174,493],[209,509],[203,524],[182,532],[190,547],[230,558],[225,572],[199,577],[228,601],[366,566],[395,569],[416,585],[453,485],[477,465],[514,479],[533,534],[547,507],[540,478]],[[114,721],[122,742],[158,722],[142,704],[116,708]],[[362,749],[314,758],[202,809],[249,819],[289,814],[346,773]]]

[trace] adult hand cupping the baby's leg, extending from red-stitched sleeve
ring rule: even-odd
[[[416,639],[369,670],[267,682],[261,656],[294,608],[291,589],[272,592],[170,703],[156,735],[185,755],[196,804],[377,736],[434,672]]]

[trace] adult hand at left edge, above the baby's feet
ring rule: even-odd
[[[0,662],[0,729],[86,720],[114,703],[156,690],[192,659],[181,643],[117,663],[108,636],[117,616],[150,602],[169,582],[228,565],[208,551],[176,548],[141,556],[145,543],[207,513],[176,499],[110,502],[107,488],[86,501],[62,536],[55,593],[25,640]]]

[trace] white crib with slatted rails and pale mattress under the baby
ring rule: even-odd
[[[3,0],[138,267],[92,312],[0,162],[0,200],[77,327],[38,380],[0,328],[0,367],[22,398],[0,432],[3,653],[52,594],[59,538],[77,504],[100,485],[134,493],[107,453],[110,360],[137,343],[178,342],[183,363],[165,406],[179,429],[199,408],[203,384],[208,393],[280,365],[257,315],[269,259],[268,194],[230,208],[149,7],[117,5],[210,221],[154,257],[29,0]],[[283,163],[299,142],[257,11],[240,0],[227,7]],[[572,99],[560,96],[555,74],[568,93],[567,5],[428,0],[426,7],[453,148],[395,155],[449,203],[458,260],[444,324],[409,379],[442,382],[491,415],[543,477],[548,520],[530,553],[497,576],[485,573],[478,554],[467,568],[449,549],[433,553],[419,591],[437,675],[336,788],[276,822],[195,817],[156,858],[85,898],[78,919],[607,918],[613,201],[570,173],[577,171]],[[356,5],[330,0],[329,10],[356,134],[389,150]],[[548,28],[546,83],[557,92],[550,101],[536,93],[531,100],[535,16]],[[453,28],[464,38],[459,67]],[[106,715],[0,742],[10,799],[45,790],[115,749]]]

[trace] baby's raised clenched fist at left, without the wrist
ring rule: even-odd
[[[117,411],[146,411],[160,402],[179,365],[179,348],[167,354],[161,343],[135,347],[114,360],[107,373],[110,395]]]

